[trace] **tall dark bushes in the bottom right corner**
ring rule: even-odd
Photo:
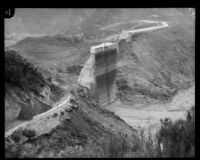
[[[140,134],[140,157],[195,157],[195,112],[188,111],[186,120],[161,120],[161,128],[153,137]]]

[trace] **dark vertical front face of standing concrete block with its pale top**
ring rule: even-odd
[[[96,46],[95,79],[98,103],[105,106],[115,101],[115,76],[117,48],[113,43]]]

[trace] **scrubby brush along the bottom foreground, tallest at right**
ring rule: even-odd
[[[194,109],[188,112],[186,120],[177,120],[172,122],[170,119],[161,121],[161,128],[154,137],[150,132],[145,135],[144,130],[140,131],[139,140],[133,143],[127,139],[127,135],[122,131],[113,136],[102,136],[96,141],[87,140],[84,145],[82,143],[72,141],[72,137],[68,139],[68,145],[59,152],[51,150],[41,150],[41,147],[34,147],[30,144],[25,144],[26,149],[21,150],[21,157],[50,157],[50,158],[91,158],[91,157],[105,157],[105,158],[130,158],[130,157],[195,157],[195,113]],[[76,132],[76,133],[75,133]],[[59,131],[54,134],[55,138],[64,138],[65,133]],[[73,134],[72,134],[73,133]],[[78,136],[79,131],[70,131],[71,136]],[[23,134],[31,135],[30,131],[23,131]],[[15,134],[18,135],[18,134]],[[17,136],[19,138],[19,136]],[[15,137],[12,137],[16,142]],[[77,137],[77,138],[78,138]],[[75,137],[74,137],[75,138]],[[52,140],[53,140],[52,139]],[[62,140],[63,141],[63,140]],[[64,140],[66,141],[66,140]],[[63,141],[63,142],[64,142]],[[60,142],[60,141],[57,141]],[[162,143],[162,148],[161,148]],[[135,145],[131,145],[135,144]],[[30,148],[31,152],[30,152]],[[38,150],[40,148],[40,151]],[[39,152],[38,152],[39,151]]]

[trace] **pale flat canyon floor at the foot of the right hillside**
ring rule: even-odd
[[[179,91],[169,103],[126,105],[117,100],[107,106],[133,128],[144,129],[154,134],[160,127],[160,119],[185,119],[189,108],[195,106],[195,86]]]

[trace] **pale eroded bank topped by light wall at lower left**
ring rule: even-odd
[[[33,130],[36,134],[35,136],[48,133],[55,128],[63,118],[69,118],[67,113],[68,111],[71,111],[73,107],[77,107],[77,105],[71,104],[70,101],[75,101],[71,100],[71,95],[67,98],[67,100],[54,108],[34,116],[32,120],[21,123],[20,125],[8,130],[5,133],[5,137],[12,135],[14,132],[21,132],[25,129]]]

